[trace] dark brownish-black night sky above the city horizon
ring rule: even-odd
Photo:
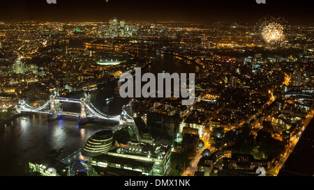
[[[313,24],[314,1],[266,0],[46,0],[1,1],[0,21],[57,22],[127,21],[257,22],[264,16],[285,17],[291,24]]]

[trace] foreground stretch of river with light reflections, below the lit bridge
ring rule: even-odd
[[[109,125],[88,124],[81,128],[75,120],[48,121],[47,116],[22,116],[13,125],[0,127],[0,175],[23,175],[27,161],[45,157],[61,149],[62,159],[82,148],[87,138]]]

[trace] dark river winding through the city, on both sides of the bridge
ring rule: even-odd
[[[174,56],[147,52],[147,56],[158,58],[156,63],[144,68],[144,72],[198,72],[196,65],[188,65]],[[115,98],[106,102],[105,97],[119,95],[117,85],[110,84],[98,93],[91,94],[91,102],[100,111],[110,115],[121,113],[121,106],[128,99]],[[45,114],[26,115],[15,118],[7,125],[0,125],[0,175],[25,175],[28,161],[41,159],[53,149],[61,149],[57,159],[79,150],[87,138],[101,129],[111,129],[112,125],[89,123],[79,127],[71,118],[48,121]]]

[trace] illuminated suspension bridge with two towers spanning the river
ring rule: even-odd
[[[80,104],[80,113],[63,111],[60,102]],[[126,106],[130,106],[130,104]],[[73,99],[59,97],[59,94],[54,90],[52,92],[52,95],[50,95],[50,100],[45,102],[43,106],[35,108],[22,100],[17,106],[17,112],[45,113],[47,114],[49,120],[55,120],[61,116],[73,116],[78,118],[78,122],[81,125],[86,124],[89,118],[119,122],[118,125],[112,128],[112,132],[115,133],[124,127],[131,127],[131,129],[133,129],[133,132],[137,135],[137,140],[141,141],[135,121],[131,116],[128,115],[128,113],[126,113],[125,110],[117,116],[107,115],[106,113],[103,113],[102,111],[97,109],[96,106],[91,104],[91,102],[89,102],[89,95],[87,95],[87,93],[84,93],[84,96],[80,99]]]

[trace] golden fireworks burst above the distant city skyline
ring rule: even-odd
[[[267,43],[271,42],[283,42],[286,38],[285,35],[285,19],[279,18],[263,18],[257,23],[259,33],[263,40]]]

